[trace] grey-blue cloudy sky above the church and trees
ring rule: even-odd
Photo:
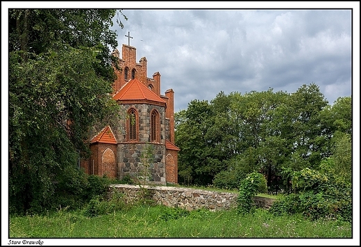
[[[273,88],[294,93],[316,83],[329,104],[351,95],[351,10],[128,9],[119,51],[137,49],[148,77],[173,88],[174,110],[217,93]],[[115,27],[114,27],[115,28]]]

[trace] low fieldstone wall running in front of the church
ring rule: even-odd
[[[173,186],[147,186],[149,198],[158,205],[167,207],[180,207],[187,210],[210,209],[216,211],[230,209],[237,206],[237,193],[225,193],[217,191],[205,191],[202,189],[190,189]],[[140,186],[130,184],[111,184],[109,188],[110,196],[113,190],[124,194],[126,203],[131,203],[140,195]],[[274,200],[270,198],[255,197],[254,202],[258,207],[269,208]]]

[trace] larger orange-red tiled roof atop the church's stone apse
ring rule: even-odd
[[[160,102],[165,104],[166,102],[156,95],[152,90],[147,88],[142,82],[137,79],[128,81],[117,94],[113,96],[115,100],[149,100],[152,102]]]

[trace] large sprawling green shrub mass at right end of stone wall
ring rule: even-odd
[[[351,221],[351,184],[324,172],[305,168],[294,173],[292,184],[296,193],[276,200],[269,211],[276,215],[303,214],[311,220],[336,218]]]

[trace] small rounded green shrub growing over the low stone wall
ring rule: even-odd
[[[267,181],[260,173],[250,173],[246,179],[240,183],[240,194],[237,198],[237,211],[246,214],[255,208],[253,198],[257,193],[267,191]]]

